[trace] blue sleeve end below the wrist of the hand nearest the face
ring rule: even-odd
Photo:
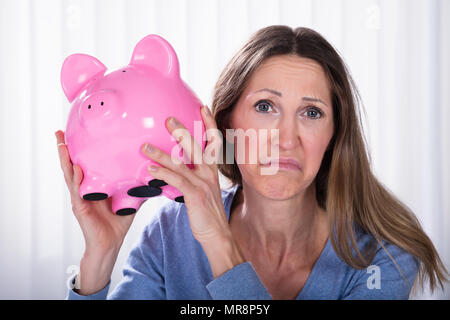
[[[270,300],[250,262],[241,263],[206,285],[215,300]]]

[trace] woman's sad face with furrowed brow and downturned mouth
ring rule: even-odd
[[[265,60],[251,75],[230,125],[248,137],[256,136],[253,145],[245,138],[243,148],[237,146],[239,138],[234,140],[236,160],[245,158],[245,163],[238,160],[245,183],[271,199],[288,199],[305,191],[319,171],[334,130],[331,93],[322,67],[297,55]],[[271,129],[278,129],[278,142],[271,140]],[[266,137],[261,135],[264,131]],[[256,151],[256,159],[250,150]],[[301,168],[280,164],[276,170],[276,164],[264,165],[271,158],[293,158]]]

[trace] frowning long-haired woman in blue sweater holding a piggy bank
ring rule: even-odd
[[[207,107],[202,115],[208,132],[223,136],[227,129],[278,135],[275,142],[258,136],[257,147],[235,145],[234,156],[245,161],[194,170],[144,146],[161,164],[152,176],[178,188],[185,203],[155,214],[108,298],[407,299],[417,274],[420,284],[442,287],[446,270],[430,239],[371,173],[356,88],[318,33],[285,26],[255,33],[222,72],[212,115]],[[191,159],[201,158],[192,137],[175,130],[181,123],[166,125]],[[80,199],[82,172],[70,163],[63,133],[56,135],[86,241],[73,279],[79,289],[68,298],[104,299],[134,215],[115,216],[110,199]],[[208,144],[222,146],[225,159],[235,138],[224,144],[216,135]],[[262,149],[276,152],[262,157]],[[231,189],[220,189],[219,170]]]

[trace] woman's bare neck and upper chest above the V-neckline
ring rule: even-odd
[[[318,206],[314,184],[295,197],[274,200],[244,183],[233,207],[231,229],[247,258],[267,259],[274,268],[294,263],[296,268],[309,265],[326,243],[326,212]]]

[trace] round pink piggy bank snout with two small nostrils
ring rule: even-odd
[[[80,104],[80,122],[84,126],[110,122],[117,117],[118,99],[113,91],[99,91],[87,96]]]

